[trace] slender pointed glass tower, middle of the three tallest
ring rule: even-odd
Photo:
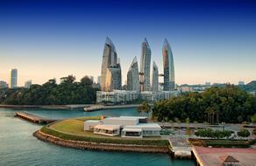
[[[140,91],[150,91],[150,64],[151,64],[151,50],[146,38],[141,45],[140,57]]]

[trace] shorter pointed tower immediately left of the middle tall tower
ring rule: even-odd
[[[134,57],[127,73],[127,90],[139,92],[139,66],[137,58]]]

